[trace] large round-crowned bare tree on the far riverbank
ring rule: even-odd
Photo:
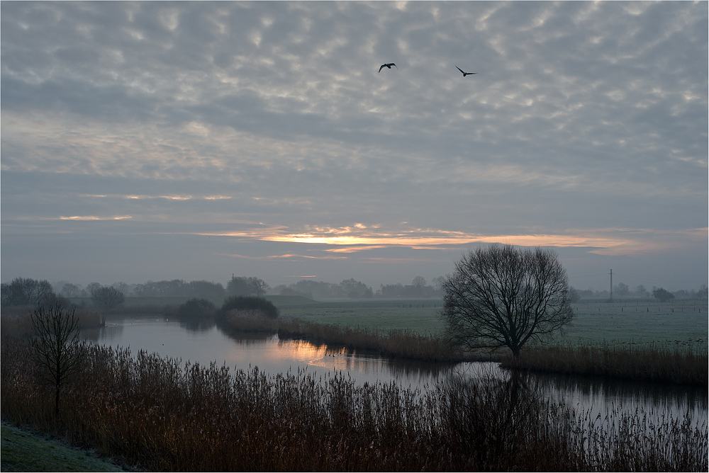
[[[568,324],[574,316],[569,282],[556,253],[491,245],[469,251],[442,284],[440,313],[460,348],[520,348]]]

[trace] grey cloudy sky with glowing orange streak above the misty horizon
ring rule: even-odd
[[[3,282],[709,280],[706,1],[0,10]]]

